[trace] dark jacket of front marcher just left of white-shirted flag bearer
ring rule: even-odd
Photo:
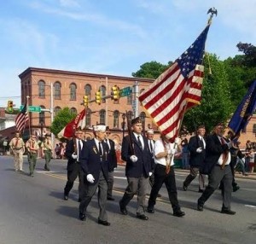
[[[146,137],[143,137],[144,142],[144,148],[140,148],[137,142],[137,138],[134,137],[134,134],[132,133],[131,141],[134,145],[134,154],[137,156],[137,162],[133,163],[130,160],[131,157],[131,148],[129,144],[129,136],[124,137],[123,143],[122,143],[122,151],[121,151],[121,157],[122,160],[125,160],[126,166],[125,166],[125,176],[126,177],[141,177],[142,174],[144,177],[149,176],[149,171],[152,171],[153,168],[151,166],[151,154],[150,150],[148,148],[148,139]]]

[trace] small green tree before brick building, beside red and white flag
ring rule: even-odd
[[[67,123],[75,118],[75,116],[76,114],[72,113],[68,107],[64,107],[56,114],[55,119],[50,126],[50,131],[54,133],[56,137]]]

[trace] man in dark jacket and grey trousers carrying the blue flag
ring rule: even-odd
[[[226,142],[223,135],[224,125],[219,123],[214,127],[213,134],[207,137],[207,151],[203,170],[209,174],[209,183],[197,201],[197,210],[203,211],[205,202],[223,180],[224,191],[221,213],[236,214],[236,212],[230,210],[233,179],[230,168],[230,147],[232,142]]]

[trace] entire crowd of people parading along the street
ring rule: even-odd
[[[92,196],[98,189],[99,216],[98,224],[109,226],[106,209],[107,200],[113,198],[113,171],[117,167],[116,145],[110,139],[110,130],[106,125],[93,127],[94,138],[84,140],[84,131],[77,128],[73,139],[62,143],[55,148],[58,158],[67,159],[67,183],[63,191],[63,199],[69,199],[69,193],[73,183],[79,177],[79,219],[86,220],[87,207]],[[228,132],[224,137],[224,125],[218,123],[212,133],[206,137],[206,128],[199,125],[195,136],[188,140],[176,137],[170,140],[160,134],[160,138],[154,140],[154,131],[149,129],[147,137],[143,135],[143,123],[139,117],[131,119],[131,128],[124,137],[121,145],[121,159],[125,161],[125,176],[127,187],[121,200],[119,211],[127,215],[126,206],[137,195],[136,217],[148,220],[148,214],[155,212],[159,191],[165,183],[169,200],[172,206],[173,216],[183,217],[185,212],[181,210],[177,199],[177,187],[174,169],[174,156],[177,152],[185,154],[183,167],[189,169],[189,175],[183,182],[183,190],[187,191],[189,184],[199,176],[198,191],[201,196],[197,200],[197,210],[203,211],[204,205],[216,189],[221,189],[223,203],[221,213],[236,214],[231,210],[231,193],[239,189],[235,180],[236,166],[241,165],[241,172],[245,176],[247,171],[254,170],[255,153],[253,144],[247,142],[246,153],[242,154],[239,148],[238,138]],[[50,135],[46,135],[44,142],[40,144],[36,136],[24,143],[20,133],[15,133],[9,146],[14,154],[15,171],[23,171],[23,157],[25,149],[28,154],[30,176],[33,177],[37,162],[38,150],[44,155],[44,170],[49,171],[49,162],[52,158],[53,145]],[[206,175],[208,177],[206,177]],[[208,178],[208,183],[206,183]],[[148,182],[151,191],[146,202]]]

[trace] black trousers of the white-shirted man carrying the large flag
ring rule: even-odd
[[[163,183],[166,184],[166,189],[169,195],[169,200],[172,204],[173,212],[180,210],[177,200],[177,188],[173,166],[171,167],[170,172],[166,174],[166,166],[162,166],[160,164],[157,164],[154,169],[154,185],[151,189],[148,200],[148,209],[154,208],[155,200]]]

